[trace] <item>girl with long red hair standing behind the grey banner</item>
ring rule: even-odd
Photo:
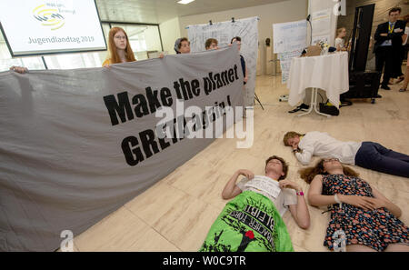
[[[128,35],[121,27],[112,27],[109,30],[108,52],[109,58],[105,59],[103,66],[136,61]]]

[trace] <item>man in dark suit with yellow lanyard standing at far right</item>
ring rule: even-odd
[[[384,79],[381,88],[389,88],[389,79],[394,76],[394,65],[396,65],[396,56],[402,48],[402,35],[404,35],[404,21],[397,21],[400,14],[400,8],[394,7],[389,10],[389,21],[380,24],[376,28],[374,39],[375,65],[376,71],[381,72],[384,69]]]

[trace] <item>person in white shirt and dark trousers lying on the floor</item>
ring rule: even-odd
[[[387,149],[374,142],[342,142],[318,131],[301,135],[290,131],[284,145],[293,148],[298,161],[309,165],[313,155],[334,157],[347,165],[358,165],[377,172],[409,178],[409,155]]]

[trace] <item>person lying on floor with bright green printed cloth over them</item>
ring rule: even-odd
[[[238,170],[224,186],[228,202],[214,221],[199,251],[294,251],[282,216],[290,209],[295,223],[303,229],[310,215],[300,185],[284,180],[288,165],[273,155],[265,161],[265,176]],[[237,178],[243,175],[236,184]]]

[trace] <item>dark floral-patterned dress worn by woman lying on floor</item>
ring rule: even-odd
[[[324,175],[323,195],[360,195],[374,197],[371,186],[364,180],[346,175]],[[363,208],[336,204],[330,208],[331,220],[324,245],[334,250],[334,233],[342,229],[346,245],[366,245],[384,251],[389,244],[409,245],[408,228],[386,208],[364,211]],[[335,234],[336,235],[336,234]]]

